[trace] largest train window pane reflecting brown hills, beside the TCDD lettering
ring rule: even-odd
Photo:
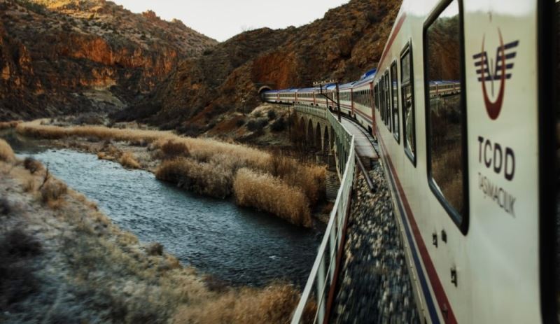
[[[426,22],[424,89],[428,182],[451,218],[465,232],[468,170],[461,30],[458,0],[443,3]],[[435,91],[430,91],[430,86]]]

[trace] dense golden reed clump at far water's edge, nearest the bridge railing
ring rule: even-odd
[[[300,188],[292,187],[269,174],[250,169],[237,171],[233,182],[237,204],[268,211],[304,227],[311,227],[309,201]]]

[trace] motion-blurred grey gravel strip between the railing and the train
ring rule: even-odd
[[[381,167],[356,183],[334,323],[419,323],[393,203]]]

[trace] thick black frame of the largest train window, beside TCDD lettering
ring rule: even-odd
[[[463,19],[463,1],[456,0],[458,5],[459,15],[459,68],[461,69],[461,160],[463,162],[463,215],[459,215],[447,199],[442,195],[442,192],[437,188],[435,179],[432,176],[432,152],[431,152],[431,108],[430,108],[430,87],[428,80],[428,28],[440,17],[441,13],[455,0],[442,0],[437,4],[433,12],[423,24],[422,30],[422,43],[423,43],[423,69],[424,69],[424,113],[426,114],[426,176],[428,177],[428,186],[438,202],[445,209],[449,218],[455,223],[463,235],[468,234],[470,223],[470,195],[469,195],[469,169],[468,169],[468,125],[467,125],[467,96],[466,96],[466,76],[465,76],[465,31]]]

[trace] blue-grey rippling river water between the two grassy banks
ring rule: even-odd
[[[235,285],[274,279],[303,286],[322,234],[267,213],[179,190],[147,171],[73,150],[0,134],[20,157],[31,156],[69,187],[99,204],[114,223],[141,241],[160,242],[183,265]]]

